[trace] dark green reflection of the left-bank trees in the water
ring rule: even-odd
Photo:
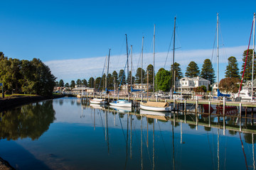
[[[53,101],[33,103],[4,111],[0,121],[0,139],[18,140],[30,137],[37,140],[55,120]]]

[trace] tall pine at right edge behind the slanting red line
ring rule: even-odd
[[[242,63],[242,70],[240,72],[241,77],[242,77],[242,72],[243,72],[244,67],[245,67],[245,74],[244,74],[244,77],[243,77],[243,79],[245,81],[252,79],[252,49],[250,49],[249,52],[248,52],[247,62],[246,62],[246,65],[245,65],[246,55],[247,55],[247,50],[245,50],[243,52],[243,55],[242,55],[242,62],[243,63]],[[255,64],[256,64],[256,57],[255,57]],[[256,77],[255,74],[256,74],[256,67],[254,67],[254,79]]]

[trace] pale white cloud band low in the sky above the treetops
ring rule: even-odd
[[[228,64],[228,57],[235,56],[238,62],[241,64],[242,61],[242,52],[246,49],[246,46],[239,47],[225,47],[220,48],[220,77],[223,76],[225,72],[225,66]],[[201,69],[203,61],[210,59],[213,62],[213,66],[217,62],[215,57],[215,51],[213,50],[177,50],[175,52],[175,62],[181,64],[181,69],[183,73],[186,72],[186,67],[189,62],[194,61],[198,64]],[[156,53],[156,70],[164,67],[165,69],[170,69],[172,64],[172,52],[169,52],[168,57],[167,52],[158,52]],[[212,57],[212,54],[213,57]],[[138,67],[142,67],[141,54],[134,54],[133,56],[133,74],[135,74]],[[124,69],[126,63],[126,55],[114,55],[110,56],[110,73],[114,70],[119,72],[120,69]],[[129,57],[130,60],[130,57]],[[102,75],[102,70],[105,64],[105,57],[92,57],[92,58],[82,58],[77,60],[52,60],[45,62],[45,64],[50,67],[51,72],[58,77],[58,80],[63,79],[65,82],[70,82],[71,80],[77,79],[89,79],[90,77],[100,77]],[[146,53],[143,56],[143,68],[149,64],[153,64],[153,54]],[[129,67],[131,67],[129,61]],[[215,70],[216,71],[216,70]]]

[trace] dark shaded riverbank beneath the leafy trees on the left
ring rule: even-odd
[[[36,101],[43,101],[50,98],[62,98],[63,95],[55,94],[51,97],[46,96],[21,96],[21,95],[12,95],[6,98],[0,98],[0,111],[4,111],[9,108],[14,108],[21,106],[27,103],[32,103]]]

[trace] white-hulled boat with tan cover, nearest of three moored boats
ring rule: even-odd
[[[171,106],[169,103],[147,101],[146,103],[140,102],[140,108],[146,111],[171,111]]]

